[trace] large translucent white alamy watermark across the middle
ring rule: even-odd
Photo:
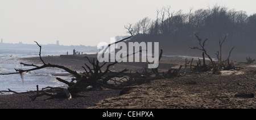
[[[123,39],[124,40],[124,39]],[[97,59],[99,62],[144,62],[149,63],[148,68],[158,68],[159,65],[159,43],[154,42],[154,53],[152,42],[115,42],[115,38],[110,39],[110,43],[101,42],[97,45],[100,49]],[[127,49],[128,48],[128,49]],[[118,50],[119,49],[119,50]],[[154,55],[153,55],[154,54]]]

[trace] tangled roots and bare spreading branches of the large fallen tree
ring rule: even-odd
[[[129,37],[131,38],[131,37]],[[126,39],[129,38],[125,38],[120,40],[119,42],[122,42]],[[115,42],[112,44],[117,44],[119,42]],[[67,71],[68,73],[71,73],[71,75],[73,75],[75,78],[73,78],[73,80],[71,82],[65,81],[61,78],[56,78],[58,81],[63,82],[64,84],[68,85],[68,88],[47,88],[47,90],[44,90],[43,93],[37,94],[36,96],[51,96],[51,98],[55,98],[55,97],[68,97],[68,98],[72,98],[72,96],[76,96],[77,93],[84,91],[87,89],[88,86],[93,86],[94,88],[111,88],[111,89],[122,89],[122,86],[113,86],[108,84],[109,80],[112,80],[113,77],[122,77],[124,72],[128,71],[127,69],[124,69],[121,72],[111,72],[109,71],[109,68],[115,64],[117,64],[117,61],[111,64],[108,64],[105,71],[102,71],[101,68],[104,67],[104,65],[106,65],[106,63],[100,65],[98,61],[95,60],[89,60],[88,57],[86,57],[89,61],[89,63],[92,65],[92,68],[89,67],[89,65],[86,65],[86,68],[83,67],[85,69],[85,72],[83,73],[83,75],[80,75],[79,73],[77,73],[76,71],[72,71],[71,69],[64,67],[62,65],[56,65],[56,64],[46,64],[44,62],[44,60],[41,57],[41,49],[42,46],[39,45],[37,42],[35,42],[39,48],[39,58],[42,61],[43,65],[39,66],[39,65],[34,65],[34,64],[25,64],[25,63],[20,63],[21,65],[24,66],[29,66],[29,67],[34,67],[31,69],[15,69],[16,72],[14,73],[1,73],[0,75],[13,75],[13,74],[20,74],[22,75],[23,73],[26,72],[30,72],[30,71],[35,71],[38,69],[43,69],[43,68],[60,68],[60,69],[64,69],[65,71]],[[108,47],[112,44],[109,44]],[[105,49],[106,51],[106,49]],[[4,92],[4,91],[2,91]],[[11,90],[9,90],[9,92],[12,92]],[[35,98],[33,97],[32,100],[35,100]]]

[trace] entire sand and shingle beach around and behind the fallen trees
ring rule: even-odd
[[[89,58],[95,56],[88,55]],[[42,64],[39,57],[21,59],[24,63]],[[43,57],[46,63],[64,65],[76,71],[82,71],[84,63],[81,56],[48,56]],[[163,57],[159,68],[168,68],[184,64],[184,59]],[[145,63],[146,64],[146,63]],[[139,71],[144,63],[120,63],[112,71],[127,68]],[[227,71],[225,74],[212,75],[209,72],[186,73],[181,77],[153,80],[142,85],[127,86],[123,90],[92,90],[82,92],[77,97],[55,98],[38,97],[31,101],[29,96],[36,93],[10,94],[0,96],[0,108],[256,108],[254,97],[256,89],[255,64],[246,65],[240,71]],[[121,95],[120,95],[121,93]]]

